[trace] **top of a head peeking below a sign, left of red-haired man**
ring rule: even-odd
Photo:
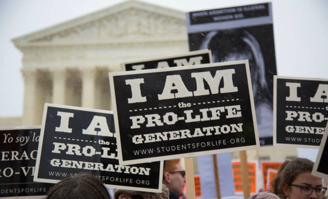
[[[162,185],[162,193],[115,190],[114,199],[168,199],[168,189]]]

